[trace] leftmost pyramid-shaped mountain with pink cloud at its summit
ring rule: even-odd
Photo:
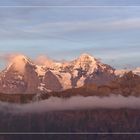
[[[35,65],[25,56],[16,56],[0,74],[1,93],[34,93],[39,84]]]

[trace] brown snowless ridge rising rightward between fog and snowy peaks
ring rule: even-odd
[[[121,95],[128,96],[140,96],[140,76],[134,74],[132,71],[125,73],[122,77],[116,77],[114,80],[107,84],[98,85],[95,83],[85,84],[79,88],[67,89],[59,92],[51,92],[50,94],[40,95],[40,99],[48,99],[49,97],[62,97],[69,98],[73,96],[110,96]]]

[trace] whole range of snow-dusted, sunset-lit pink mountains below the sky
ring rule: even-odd
[[[49,61],[37,65],[24,55],[16,55],[0,72],[0,92],[7,94],[36,94],[60,92],[84,85],[106,85],[122,77],[128,70],[115,70],[89,54],[69,62]],[[139,75],[137,68],[133,73]]]

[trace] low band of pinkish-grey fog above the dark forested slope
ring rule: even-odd
[[[0,102],[0,111],[14,113],[39,113],[43,111],[62,111],[62,110],[78,110],[78,109],[119,109],[119,108],[140,108],[140,97],[82,97],[76,96],[68,99],[51,97],[49,99],[32,102],[28,104],[13,104]]]

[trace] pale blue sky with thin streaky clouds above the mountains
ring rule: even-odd
[[[89,53],[115,68],[140,66],[139,0],[1,0],[0,67],[22,53],[72,60]]]

